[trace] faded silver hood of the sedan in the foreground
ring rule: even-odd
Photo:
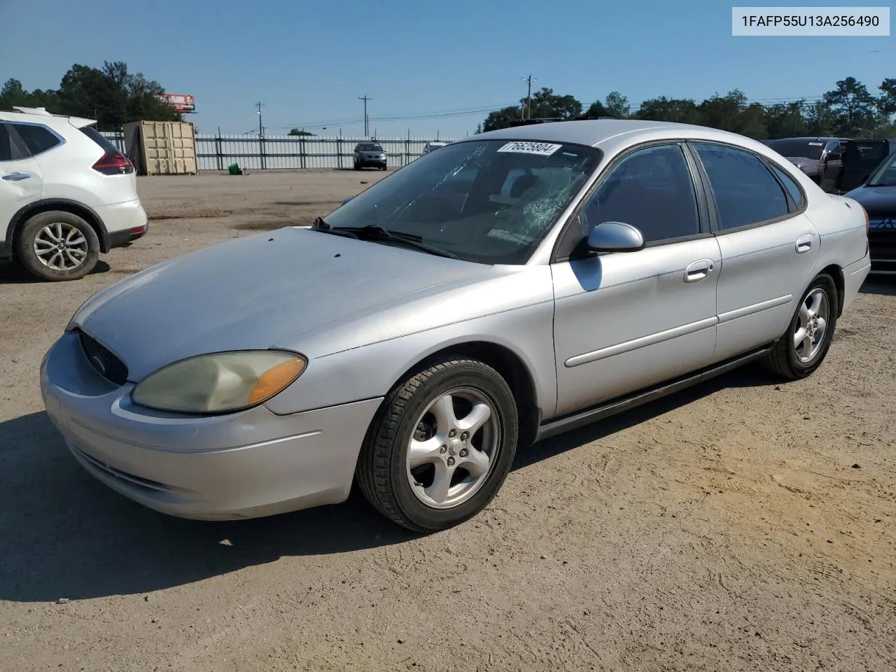
[[[70,326],[116,353],[139,381],[203,353],[295,347],[303,333],[490,268],[283,228],[136,273],[90,298]]]

